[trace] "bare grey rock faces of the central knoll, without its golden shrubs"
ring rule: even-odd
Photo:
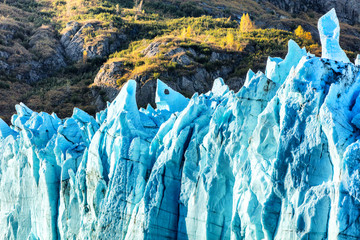
[[[167,79],[164,82],[176,91],[186,96],[191,96],[195,92],[207,92],[211,89],[212,79],[220,76],[235,91],[243,85],[244,79],[231,76],[242,58],[238,53],[212,50],[205,55],[199,50],[181,46],[172,47],[164,52],[166,45],[167,42],[152,42],[142,54],[149,59],[162,54],[168,62],[174,62],[180,68],[191,69],[181,71],[178,68],[177,71],[162,72],[162,77]],[[207,65],[203,64],[204,60],[207,61]],[[105,96],[109,101],[115,99],[121,89],[118,80],[128,71],[126,63],[126,60],[111,60],[101,67],[95,77],[94,84],[106,92]],[[136,96],[139,106],[146,107],[149,103],[154,106],[157,79],[148,72],[135,74],[133,78],[138,83]],[[104,105],[99,103],[99,107],[101,106]]]

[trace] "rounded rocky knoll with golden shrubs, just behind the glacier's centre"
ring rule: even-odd
[[[243,85],[242,74],[235,71],[244,56],[237,51],[201,47],[191,40],[163,38],[154,40],[138,53],[143,57],[135,63],[114,58],[101,67],[94,84],[106,91],[107,100],[117,96],[117,89],[127,79],[138,82],[137,102],[142,107],[155,103],[157,78],[188,97],[195,92],[209,91],[213,79],[218,77],[226,79],[235,90]]]

